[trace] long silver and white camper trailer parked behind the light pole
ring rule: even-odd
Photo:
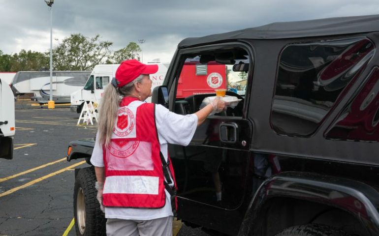
[[[91,71],[53,71],[53,100],[69,103],[70,94],[84,86]],[[50,100],[50,71],[19,71],[11,84],[14,95],[34,93],[32,100],[47,103]]]

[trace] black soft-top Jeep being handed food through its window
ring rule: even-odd
[[[186,115],[214,89],[247,89],[227,91],[239,102],[209,116],[189,146],[169,146],[177,217],[219,235],[378,236],[377,45],[379,15],[180,42],[153,102]],[[93,146],[71,142],[67,160]],[[93,168],[77,170],[78,235],[104,230],[94,181]]]

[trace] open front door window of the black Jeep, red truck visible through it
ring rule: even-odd
[[[247,85],[250,58],[241,49],[206,51],[184,58],[176,88],[175,111],[180,114],[194,113],[200,109],[204,98],[215,96],[215,89],[225,89],[226,96],[241,102],[228,108],[221,116],[242,116],[244,88]],[[234,98],[233,98],[234,99]]]

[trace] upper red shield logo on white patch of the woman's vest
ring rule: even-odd
[[[134,123],[134,114],[126,107],[123,107],[118,111],[117,122],[113,133],[118,137],[126,137],[133,130]]]

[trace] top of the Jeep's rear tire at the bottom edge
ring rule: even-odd
[[[349,236],[341,230],[326,225],[308,224],[293,226],[279,232],[275,236]]]

